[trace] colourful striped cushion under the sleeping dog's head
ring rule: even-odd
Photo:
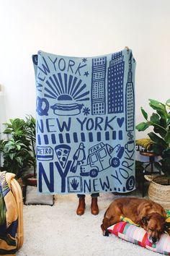
[[[169,221],[169,211],[166,212],[166,221]],[[123,221],[109,226],[107,229],[109,233],[119,236],[133,244],[138,244],[141,247],[151,249],[154,252],[159,252],[164,255],[170,255],[170,236],[168,234],[162,234],[157,244],[152,244],[148,240],[148,234],[137,225],[134,225],[133,221],[128,218],[122,218]]]

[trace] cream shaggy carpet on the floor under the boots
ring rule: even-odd
[[[56,195],[53,206],[24,205],[24,244],[17,256],[160,255],[113,235],[102,236],[102,218],[115,197],[112,193],[100,195],[98,216],[91,215],[90,195],[86,196],[84,216],[76,215],[78,199],[73,194]]]

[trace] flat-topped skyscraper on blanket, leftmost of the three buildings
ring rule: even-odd
[[[91,108],[92,115],[106,114],[106,80],[107,57],[92,59]]]

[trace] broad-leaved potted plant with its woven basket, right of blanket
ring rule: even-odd
[[[160,156],[160,160],[154,165],[164,175],[150,179],[148,195],[165,208],[170,208],[170,99],[166,103],[150,99],[149,105],[154,110],[153,114],[148,117],[146,111],[141,108],[146,121],[138,124],[136,129],[140,132],[153,127],[153,132],[148,133],[153,142],[151,150]]]

